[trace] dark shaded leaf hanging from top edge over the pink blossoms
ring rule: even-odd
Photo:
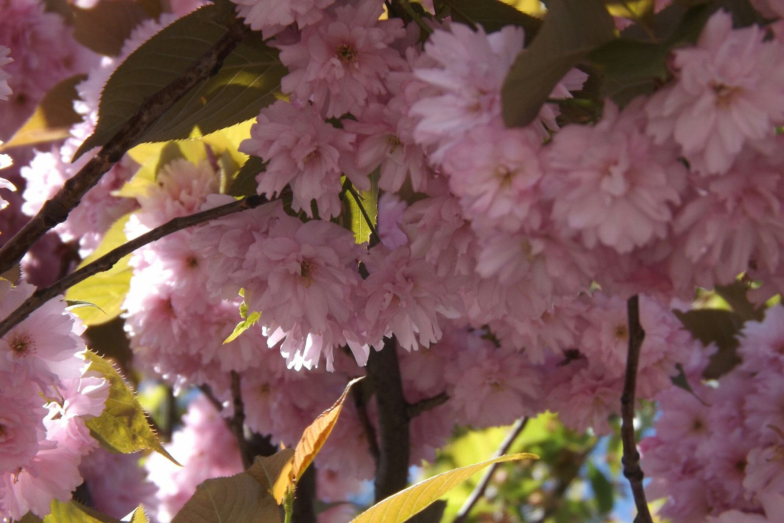
[[[517,56],[501,88],[508,127],[534,121],[553,88],[593,49],[615,38],[601,0],[553,0],[533,43]]]

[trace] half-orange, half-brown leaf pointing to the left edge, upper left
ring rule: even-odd
[[[82,115],[74,110],[74,100],[79,98],[76,86],[85,78],[86,74],[77,74],[49,89],[33,115],[8,142],[0,145],[0,151],[66,139],[70,135],[71,125],[82,121]]]

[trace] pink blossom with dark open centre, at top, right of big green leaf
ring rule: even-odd
[[[359,114],[387,92],[383,78],[405,61],[390,44],[405,36],[402,20],[379,20],[383,5],[358,2],[324,13],[305,27],[295,44],[282,45],[281,62],[289,74],[281,88],[301,102],[313,100],[320,114]]]

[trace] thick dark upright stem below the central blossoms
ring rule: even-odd
[[[403,395],[397,339],[392,337],[378,352],[372,351],[366,367],[379,411],[379,461],[376,464],[376,502],[405,489],[411,451],[408,402]]]

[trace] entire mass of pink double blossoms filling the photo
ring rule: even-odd
[[[644,445],[652,493],[669,495],[664,513],[684,521],[772,521],[784,495],[774,467],[784,421],[771,407],[781,397],[774,319],[782,312],[773,308],[764,323],[746,327],[742,366],[718,387],[696,388],[709,408],[670,388],[677,362],[699,383],[705,356],[670,308],[696,286],[731,283],[742,272],[763,282],[760,301],[784,289],[779,27],[768,38],[757,26],[733,28],[719,11],[695,45],[673,52],[673,79],[652,96],[622,108],[607,100],[593,125],[561,127],[557,105],[547,103],[528,127],[506,128],[501,86],[524,48],[518,27],[486,34],[447,20],[422,45],[415,24],[381,20],[378,0],[237,3],[288,68],[281,81],[288,99],[261,110],[241,151],[265,162],[257,192],[277,197],[288,186],[292,204],[267,204],[136,251],[123,317],[137,365],[179,388],[207,385],[219,401],[229,398],[228,373],[239,373],[249,428],[290,446],[348,378],[364,373],[370,352],[394,337],[406,349],[408,402],[449,397],[412,420],[411,460],[419,463],[433,459],[454,424],[508,424],[545,409],[569,427],[607,433],[623,381],[625,299],[643,294],[638,395],[662,406],[657,435]],[[769,16],[784,13],[781,2],[754,3]],[[0,70],[0,98],[10,86],[27,96],[19,104],[37,102],[52,78],[89,70],[78,86],[84,121],[71,138],[23,155],[23,210],[33,214],[86,161],[70,164],[93,131],[103,81],[173,16],[143,24],[121,56],[99,63],[38,2],[9,5],[34,27],[4,31],[0,20],[0,66],[13,74],[9,80]],[[2,40],[42,27],[67,41],[49,45],[60,54],[38,52],[53,60],[48,69],[33,52],[22,54],[24,45]],[[44,81],[42,71],[52,78]],[[550,99],[572,96],[584,81],[582,71],[570,71]],[[17,112],[0,106],[0,139],[24,121]],[[85,256],[126,214],[132,237],[231,201],[219,194],[216,164],[184,158],[162,166],[147,193],[114,196],[137,167],[126,159],[107,173],[58,226],[60,238],[78,241]],[[371,189],[376,169],[380,243],[368,247],[327,220],[343,215],[346,184]],[[13,185],[0,179],[0,188]],[[0,310],[13,310],[30,291],[5,289]],[[241,307],[258,313],[258,324],[224,344]],[[53,497],[67,499],[81,482],[81,457],[95,446],[83,420],[100,413],[105,388],[83,374],[74,355],[78,328],[62,308],[37,312],[51,329],[21,323],[3,338],[9,357],[0,358],[0,398],[11,407],[0,425],[12,435],[0,442],[6,518],[45,514]],[[44,333],[58,337],[38,340]],[[35,355],[22,358],[29,347]],[[291,370],[303,367],[309,372]],[[41,394],[52,401],[42,403]],[[172,442],[175,456],[173,448],[186,449],[185,469],[147,463],[160,486],[159,521],[208,475],[241,467],[234,454],[211,453],[230,446],[230,436],[208,407],[195,402]],[[375,403],[365,409],[373,419]],[[346,500],[372,477],[369,455],[345,459],[368,446],[360,415],[347,406],[319,456],[321,499]],[[716,427],[713,436],[705,427]],[[719,433],[736,445],[720,449]],[[98,469],[89,482],[96,489]],[[127,470],[129,484],[139,485],[139,469]],[[704,485],[710,489],[697,496]]]

